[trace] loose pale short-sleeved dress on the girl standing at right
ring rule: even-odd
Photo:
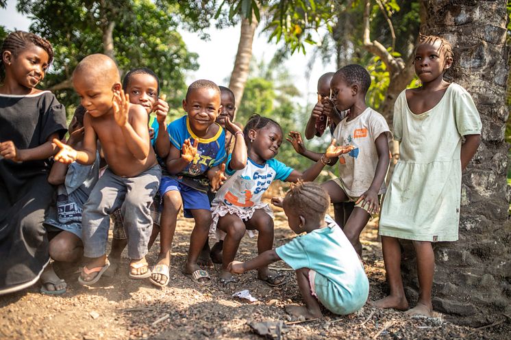
[[[394,137],[400,158],[382,205],[379,235],[417,241],[456,241],[460,222],[463,135],[482,123],[464,88],[451,83],[438,104],[414,114],[399,94]]]

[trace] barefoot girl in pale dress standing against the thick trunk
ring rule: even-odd
[[[407,313],[431,316],[432,242],[458,239],[462,170],[477,151],[482,124],[470,94],[443,79],[453,62],[451,44],[421,35],[414,54],[422,86],[404,90],[395,103],[394,131],[401,142],[401,156],[379,220],[390,296],[375,306],[408,309],[398,239],[411,239],[417,256],[419,301]]]

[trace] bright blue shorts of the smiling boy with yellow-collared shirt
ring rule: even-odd
[[[192,187],[188,187],[188,185],[184,185],[172,177],[162,176],[160,197],[163,198],[164,194],[170,191],[177,191],[181,194],[181,198],[183,200],[183,213],[186,218],[193,217],[190,209],[205,209],[208,211],[211,209],[208,194],[205,192],[199,192],[199,190]]]

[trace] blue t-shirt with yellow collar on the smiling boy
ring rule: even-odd
[[[190,164],[182,172],[172,177],[184,185],[202,192],[208,192],[209,180],[205,172],[221,164],[227,157],[225,153],[225,131],[219,125],[219,131],[212,138],[199,138],[190,128],[188,116],[174,120],[169,124],[167,130],[172,145],[179,151],[185,140],[190,139],[190,144],[193,144],[195,140],[199,141],[195,158],[190,161]]]

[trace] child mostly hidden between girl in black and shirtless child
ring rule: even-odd
[[[79,105],[69,123],[68,146],[81,149],[84,142],[84,115],[86,109]],[[69,166],[55,162],[48,175],[48,182],[58,185],[57,201],[49,210],[45,227],[49,234],[49,252],[53,261],[76,263],[82,259],[82,209],[92,187],[99,178],[99,155],[91,165],[72,163]],[[42,283],[41,293],[60,294],[66,291],[66,283],[60,280],[50,263],[45,272],[53,277]]]

